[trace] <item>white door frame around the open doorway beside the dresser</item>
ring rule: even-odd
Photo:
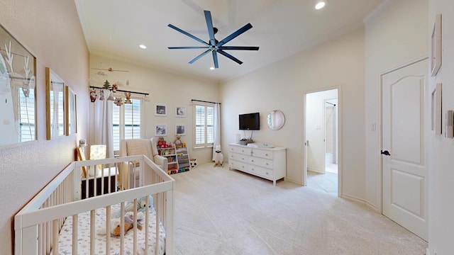
[[[336,85],[336,86],[328,86],[328,87],[323,87],[321,89],[312,89],[312,90],[306,90],[303,91],[302,97],[303,97],[303,118],[302,118],[302,137],[303,140],[301,141],[301,152],[303,152],[303,157],[301,157],[301,166],[303,166],[303,169],[301,169],[301,183],[303,186],[307,186],[307,154],[306,154],[306,96],[307,94],[312,94],[316,92],[321,92],[321,91],[328,91],[328,90],[333,90],[337,89],[338,90],[338,197],[342,196],[342,84]]]

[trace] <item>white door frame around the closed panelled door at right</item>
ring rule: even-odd
[[[386,75],[386,74],[389,74],[391,72],[397,71],[399,69],[402,69],[404,67],[408,67],[411,64],[415,64],[417,62],[426,60],[426,59],[428,59],[428,55],[423,55],[422,57],[418,57],[418,58],[416,58],[414,60],[411,60],[409,62],[405,62],[404,64],[401,64],[401,65],[399,65],[397,67],[393,67],[392,69],[389,69],[389,70],[387,70],[385,72],[380,73],[380,101],[379,101],[379,105],[380,106],[378,108],[379,114],[380,114],[380,119],[379,119],[379,123],[378,123],[378,125],[380,125],[380,138],[379,138],[380,139],[380,142],[379,142],[380,148],[378,148],[378,152],[380,152],[380,150],[383,149],[383,125],[382,125],[382,123],[383,123],[383,93],[382,93],[383,92],[383,76]],[[428,75],[428,78],[430,78],[429,73],[427,73],[427,75]],[[427,91],[424,91],[424,93],[426,94]],[[426,111],[426,106],[423,106],[423,108],[424,108],[424,111]],[[427,134],[425,134],[425,137],[424,137],[425,142],[427,142],[427,137],[426,136],[427,136]],[[425,157],[427,159],[427,150],[424,153],[426,154]],[[379,197],[378,198],[378,202],[379,203],[377,204],[377,212],[380,213],[381,215],[383,215],[383,161],[382,161],[382,155],[381,154],[378,154],[378,157],[380,157],[380,159],[378,161],[379,162],[379,171],[380,171],[380,173],[379,173],[379,176],[378,176],[378,186],[377,186],[378,187],[377,196]]]

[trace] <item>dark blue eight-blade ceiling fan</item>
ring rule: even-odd
[[[218,53],[228,57],[229,59],[237,62],[238,64],[243,64],[243,62],[238,60],[236,57],[233,57],[232,55],[228,54],[224,50],[258,50],[259,47],[224,46],[227,42],[230,42],[231,40],[236,38],[238,35],[241,35],[242,33],[245,33],[247,30],[252,28],[253,26],[250,25],[250,23],[248,23],[245,26],[243,26],[242,28],[236,30],[231,35],[228,35],[226,38],[223,38],[223,40],[218,41],[218,40],[216,40],[216,38],[214,38],[214,35],[218,32],[218,29],[213,27],[213,21],[211,20],[211,12],[204,11],[204,13],[205,13],[205,20],[206,20],[206,28],[208,28],[209,42],[205,42],[204,40],[201,40],[200,38],[197,38],[196,36],[191,35],[190,33],[187,33],[186,31],[179,29],[176,26],[173,26],[172,24],[168,25],[170,28],[177,30],[179,33],[187,35],[190,38],[206,45],[206,46],[200,46],[200,47],[168,47],[170,50],[174,50],[174,49],[207,49],[205,52],[201,53],[201,55],[198,55],[197,57],[194,57],[193,60],[189,61],[189,64],[196,62],[197,60],[199,60],[201,57],[208,54],[209,52],[211,52],[211,54],[213,55],[214,68],[219,67],[218,55],[217,55]]]

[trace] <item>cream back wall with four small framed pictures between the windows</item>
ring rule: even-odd
[[[143,63],[121,61],[110,56],[90,55],[90,68],[108,67],[129,72],[107,72],[108,76],[100,77],[96,75],[98,70],[91,69],[90,77],[100,81],[108,79],[110,84],[121,81],[123,86],[118,89],[150,94],[142,108],[145,120],[141,127],[143,128],[143,138],[155,136],[155,125],[165,124],[167,125],[165,140],[175,142],[175,125],[186,125],[186,135],[183,135],[181,140],[187,143],[189,157],[196,158],[199,163],[211,162],[211,149],[192,149],[191,146],[194,142],[191,99],[218,102],[220,96],[219,86],[216,82],[167,72]],[[126,86],[126,80],[130,81],[129,86]],[[96,86],[102,86],[102,84]],[[155,115],[156,103],[167,106],[166,116]],[[175,117],[175,106],[186,106],[186,118]],[[223,106],[221,105],[221,107]],[[93,126],[90,130],[94,130]],[[90,137],[90,141],[92,140],[94,137]]]

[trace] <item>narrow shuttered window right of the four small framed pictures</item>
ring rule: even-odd
[[[214,142],[214,106],[194,105],[194,137],[196,148],[211,147]]]

